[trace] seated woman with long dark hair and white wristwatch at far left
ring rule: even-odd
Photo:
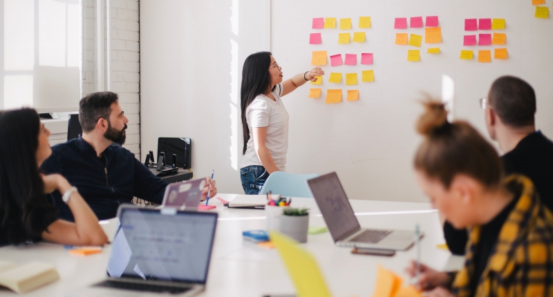
[[[41,239],[64,245],[104,245],[107,237],[77,189],[59,174],[41,175],[50,131],[34,109],[0,111],[0,246]],[[75,223],[58,220],[49,193],[59,191]]]

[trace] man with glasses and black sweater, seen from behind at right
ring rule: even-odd
[[[536,95],[527,82],[503,76],[491,84],[488,97],[480,99],[489,137],[499,144],[505,175],[526,175],[538,191],[541,202],[553,211],[553,142],[536,131]],[[451,253],[465,254],[467,231],[444,224],[444,236]]]

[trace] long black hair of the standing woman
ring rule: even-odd
[[[250,106],[255,97],[259,94],[265,94],[271,87],[271,75],[269,67],[271,66],[270,52],[256,52],[244,61],[242,68],[242,87],[240,89],[240,106],[242,109],[242,133],[244,147],[242,155],[246,153],[247,141],[250,140],[250,128],[246,122],[246,108]],[[271,91],[274,91],[274,86]]]

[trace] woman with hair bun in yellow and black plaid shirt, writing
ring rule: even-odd
[[[418,287],[427,296],[553,296],[553,215],[532,182],[504,178],[496,150],[472,126],[447,122],[441,103],[424,106],[416,180],[433,207],[470,233],[465,267],[420,265]],[[415,262],[406,271],[415,276]]]

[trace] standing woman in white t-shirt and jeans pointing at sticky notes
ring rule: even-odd
[[[240,177],[244,193],[258,194],[274,171],[285,171],[288,152],[288,112],[282,96],[315,76],[319,67],[282,81],[282,68],[270,52],[256,52],[246,58],[240,92],[244,138]]]

